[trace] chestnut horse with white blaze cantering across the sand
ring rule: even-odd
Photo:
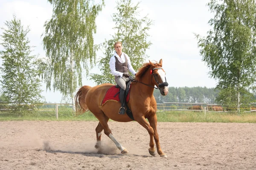
[[[128,102],[128,107],[133,113],[134,120],[148,130],[150,136],[149,153],[152,156],[155,155],[155,141],[157,153],[161,157],[167,156],[160,147],[157,133],[157,103],[153,96],[153,91],[156,85],[161,95],[166,96],[168,94],[169,89],[165,75],[166,73],[162,68],[162,59],[156,64],[150,61],[149,63],[144,63],[135,76],[136,81],[131,83],[130,99]],[[113,84],[109,83],[94,87],[82,86],[75,96],[76,112],[84,113],[89,110],[99,119],[99,124],[96,127],[96,148],[100,149],[101,147],[101,135],[102,130],[104,130],[104,133],[116,144],[116,147],[121,150],[121,153],[125,154],[128,153],[128,150],[113,137],[108,127],[108,120],[112,119],[117,122],[131,122],[133,120],[126,113],[124,115],[118,113],[120,108],[119,102],[110,100],[101,106],[106,92],[112,86]],[[148,119],[149,124],[146,119]]]

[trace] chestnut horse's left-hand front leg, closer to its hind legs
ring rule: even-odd
[[[142,125],[146,130],[148,130],[148,134],[150,136],[150,141],[149,141],[149,149],[148,152],[150,153],[150,155],[155,156],[155,149],[154,149],[154,129],[148,125],[147,120],[145,119],[144,116],[140,117],[139,119],[136,119],[136,121]]]

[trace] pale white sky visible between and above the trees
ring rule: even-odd
[[[99,0],[95,0],[98,2]],[[214,88],[216,80],[209,78],[209,68],[202,61],[198,40],[195,34],[206,36],[211,29],[208,21],[213,17],[207,3],[209,0],[131,0],[135,5],[140,2],[140,16],[148,15],[154,25],[148,31],[152,45],[146,51],[148,60],[163,60],[166,80],[169,87],[207,87]],[[105,7],[96,18],[97,32],[94,35],[95,44],[111,39],[115,32],[112,14],[116,13],[116,0],[105,0]],[[28,38],[32,54],[45,57],[41,34],[44,33],[44,23],[52,17],[52,6],[47,0],[1,0],[0,28],[6,21],[13,19],[13,14],[21,20],[24,28],[29,26]],[[124,24],[124,23],[120,23]],[[3,30],[0,29],[0,34]],[[123,47],[125,49],[125,46]],[[0,50],[3,47],[0,46]],[[97,60],[100,59],[97,53]],[[2,60],[0,60],[0,65]],[[100,74],[97,65],[90,73]],[[83,85],[95,86],[96,83],[83,75]],[[42,95],[47,102],[62,103],[61,93],[46,90],[42,83]]]

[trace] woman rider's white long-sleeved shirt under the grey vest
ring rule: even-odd
[[[115,57],[116,56],[116,57]],[[114,76],[119,76],[120,78],[122,77],[122,74],[121,72],[119,71],[116,71],[116,58],[118,59],[119,62],[121,63],[124,63],[125,62],[125,56],[127,58],[127,66],[128,66],[128,70],[133,74],[135,75],[136,74],[136,71],[134,71],[134,68],[132,68],[131,66],[131,60],[130,60],[130,57],[124,53],[121,54],[121,57],[119,57],[118,54],[116,54],[116,52],[114,53],[114,55],[110,58],[110,61],[109,61],[109,67],[110,67],[110,71],[111,73],[114,75]]]

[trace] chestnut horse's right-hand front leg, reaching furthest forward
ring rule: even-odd
[[[157,146],[157,153],[161,157],[167,158],[166,154],[163,153],[163,151],[160,147],[159,136],[158,136],[158,133],[157,133],[157,115],[154,114],[154,116],[149,117],[148,122],[151,125],[151,127],[154,129],[154,139],[155,139],[156,146]]]

